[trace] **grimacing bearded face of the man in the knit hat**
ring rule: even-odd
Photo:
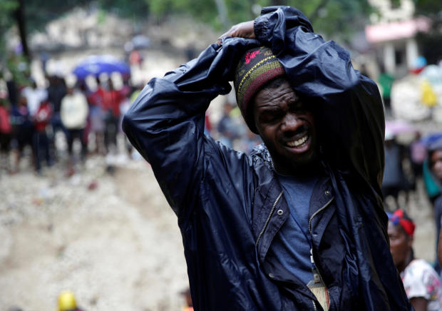
[[[278,173],[291,175],[316,160],[316,128],[312,111],[285,81],[255,96],[253,116]]]

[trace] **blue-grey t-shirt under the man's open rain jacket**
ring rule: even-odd
[[[318,176],[293,177],[279,174],[277,176],[291,215],[275,236],[268,255],[276,258],[283,267],[307,285],[313,279],[310,261],[309,205]]]

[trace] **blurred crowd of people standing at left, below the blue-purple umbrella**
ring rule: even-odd
[[[95,86],[86,81],[67,85],[60,76],[46,76],[47,87],[29,78],[24,85],[12,84],[0,93],[0,146],[2,170],[17,173],[21,158],[29,155],[36,173],[60,160],[61,133],[67,146],[68,171],[83,163],[89,153],[106,155],[117,148],[120,119],[130,105],[130,96],[139,92],[123,77],[123,86],[114,88],[111,77],[96,77]],[[81,151],[75,154],[75,141]],[[130,145],[127,144],[128,152]]]

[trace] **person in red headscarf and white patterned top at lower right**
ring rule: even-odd
[[[416,311],[442,310],[442,287],[438,274],[423,259],[414,258],[413,235],[416,225],[404,210],[389,214],[390,251],[399,270],[405,292]]]

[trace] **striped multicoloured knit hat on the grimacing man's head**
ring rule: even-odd
[[[264,84],[284,73],[281,63],[266,46],[250,49],[240,58],[233,85],[242,116],[252,132],[257,133],[257,129],[250,102]]]

